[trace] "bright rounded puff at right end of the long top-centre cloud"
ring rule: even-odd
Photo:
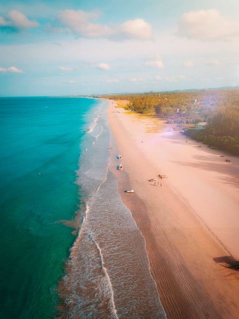
[[[151,25],[143,19],[128,20],[121,24],[121,30],[134,38],[152,38]]]

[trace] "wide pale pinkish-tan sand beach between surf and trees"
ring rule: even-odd
[[[227,256],[239,258],[239,159],[157,132],[158,120],[113,102],[109,122],[128,174],[115,171],[119,191],[146,239],[168,318],[239,318],[239,271],[227,268]],[[158,174],[168,176],[162,187],[148,181]]]

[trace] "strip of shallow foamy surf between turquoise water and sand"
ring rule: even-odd
[[[144,318],[150,312],[151,317],[163,319],[145,239],[119,195],[113,174],[120,173],[115,170],[118,160],[109,149],[108,102],[101,104],[90,112],[89,129],[81,141],[76,183],[85,211],[59,285],[63,299],[59,317],[71,313],[77,317]]]

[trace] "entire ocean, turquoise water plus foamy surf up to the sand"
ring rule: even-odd
[[[165,317],[109,169],[107,106],[0,98],[1,318]]]

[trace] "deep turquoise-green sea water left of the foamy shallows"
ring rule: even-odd
[[[102,101],[0,99],[0,317],[52,318],[75,237],[81,141]],[[85,143],[85,141],[84,141]]]

